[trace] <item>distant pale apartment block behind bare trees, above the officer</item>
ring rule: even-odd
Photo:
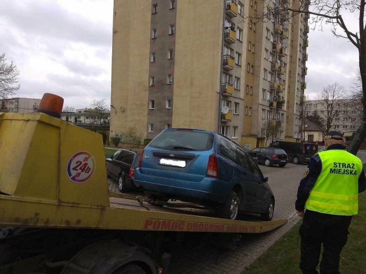
[[[314,110],[325,122],[331,121],[331,130],[341,131],[346,140],[352,136],[361,123],[361,100],[306,100],[305,116],[311,116]]]

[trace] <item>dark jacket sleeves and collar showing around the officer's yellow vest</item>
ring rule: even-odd
[[[345,146],[334,144],[331,146],[328,146],[327,150],[330,149],[346,149]],[[306,175],[301,181],[300,185],[297,189],[297,200],[295,202],[295,208],[297,211],[303,211],[305,209],[305,202],[307,198],[309,197],[310,190],[314,186],[318,176],[320,175],[320,172],[322,171],[322,161],[320,161],[320,157],[318,154],[315,154],[309,164],[307,165],[307,168],[309,171],[305,172],[304,175]],[[363,192],[366,189],[366,177],[364,169],[362,169],[362,172],[358,178],[358,192]]]

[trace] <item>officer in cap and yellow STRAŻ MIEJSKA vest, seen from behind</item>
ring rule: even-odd
[[[358,193],[366,189],[362,162],[346,151],[343,134],[332,130],[324,139],[326,150],[311,158],[295,203],[296,213],[304,216],[300,226],[303,273],[318,273],[322,243],[320,273],[339,273],[348,226],[358,212]]]

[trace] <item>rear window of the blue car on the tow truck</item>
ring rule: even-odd
[[[204,151],[212,148],[212,133],[194,130],[165,130],[149,146],[181,151]]]

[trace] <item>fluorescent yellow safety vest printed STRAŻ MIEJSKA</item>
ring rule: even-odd
[[[318,152],[322,171],[305,203],[305,208],[332,215],[358,213],[358,178],[362,162],[346,150]]]

